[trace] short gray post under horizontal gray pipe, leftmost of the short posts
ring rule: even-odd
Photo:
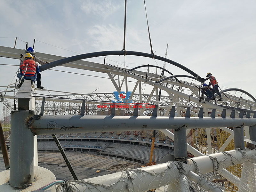
[[[188,159],[187,153],[187,134],[186,127],[174,129],[174,159],[186,163]]]

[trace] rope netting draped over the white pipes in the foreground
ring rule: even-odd
[[[188,164],[171,161],[141,169],[124,169],[122,172],[87,180],[68,180],[61,183],[56,191],[255,192],[255,155],[247,156],[245,151],[236,149],[236,153],[241,153],[244,161],[238,166],[239,159],[228,152],[221,153],[223,155],[221,160],[207,155],[211,160],[210,166],[213,166],[213,171],[205,174],[200,171],[202,165],[198,166],[194,158],[189,158]],[[241,167],[241,173],[233,172],[234,169],[230,169],[232,166],[227,167],[226,164]]]

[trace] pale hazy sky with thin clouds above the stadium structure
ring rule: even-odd
[[[168,59],[202,77],[211,72],[220,86],[241,88],[256,95],[256,1],[146,0],[146,7],[156,55],[164,57],[169,43]],[[0,1],[0,18],[0,37],[19,37],[28,46],[33,46],[36,39],[36,52],[68,57],[123,49],[124,1],[121,0]],[[14,41],[14,38],[0,38],[0,45],[13,47]],[[25,49],[26,45],[18,40],[16,47]],[[125,49],[151,52],[143,0],[127,1]],[[125,57],[125,64],[124,56],[108,59],[108,63],[119,62],[120,67],[126,68],[145,64],[163,66],[160,61],[131,56]],[[89,61],[103,63],[103,58]],[[0,58],[0,63],[18,64],[19,61]],[[56,69],[106,76],[64,67]],[[177,75],[186,74],[169,64],[166,69]],[[0,70],[4,71],[0,84],[8,85],[17,68],[0,65]],[[97,92],[115,91],[110,80],[52,71],[42,72],[42,85],[78,93],[90,93],[96,88],[99,88]]]

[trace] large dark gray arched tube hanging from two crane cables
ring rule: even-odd
[[[85,54],[81,54],[81,55],[75,55],[72,57],[67,57],[65,59],[60,59],[60,60],[56,60],[53,61],[51,63],[48,63],[47,65],[42,65],[40,66],[40,71],[44,71],[46,69],[50,69],[59,65],[63,65],[69,62],[73,62],[73,61],[77,61],[77,60],[82,60],[82,59],[88,59],[88,58],[93,58],[93,57],[100,57],[100,56],[107,56],[107,55],[134,55],[134,56],[141,56],[141,57],[149,57],[152,59],[157,59],[157,60],[161,60],[161,61],[165,61],[167,63],[170,63],[178,68],[181,68],[185,71],[187,71],[189,74],[191,74],[192,76],[196,77],[198,79],[198,81],[200,81],[201,83],[204,82],[204,79],[200,76],[198,76],[194,71],[186,68],[185,66],[166,59],[164,57],[160,57],[154,54],[150,54],[150,53],[143,53],[143,52],[135,52],[135,51],[102,51],[102,52],[92,52],[92,53],[85,53]]]

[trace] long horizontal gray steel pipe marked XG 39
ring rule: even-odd
[[[211,118],[211,117],[150,117],[150,116],[35,116],[29,125],[37,135],[82,133],[82,132],[109,132],[109,131],[133,131],[178,129],[209,127],[237,127],[253,126],[256,118]]]

